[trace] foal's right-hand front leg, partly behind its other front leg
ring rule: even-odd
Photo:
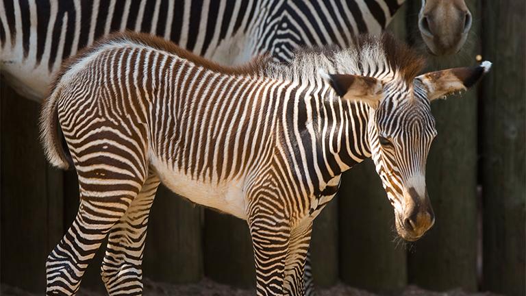
[[[312,221],[301,223],[290,232],[285,266],[286,295],[305,295],[305,261],[307,259]]]

